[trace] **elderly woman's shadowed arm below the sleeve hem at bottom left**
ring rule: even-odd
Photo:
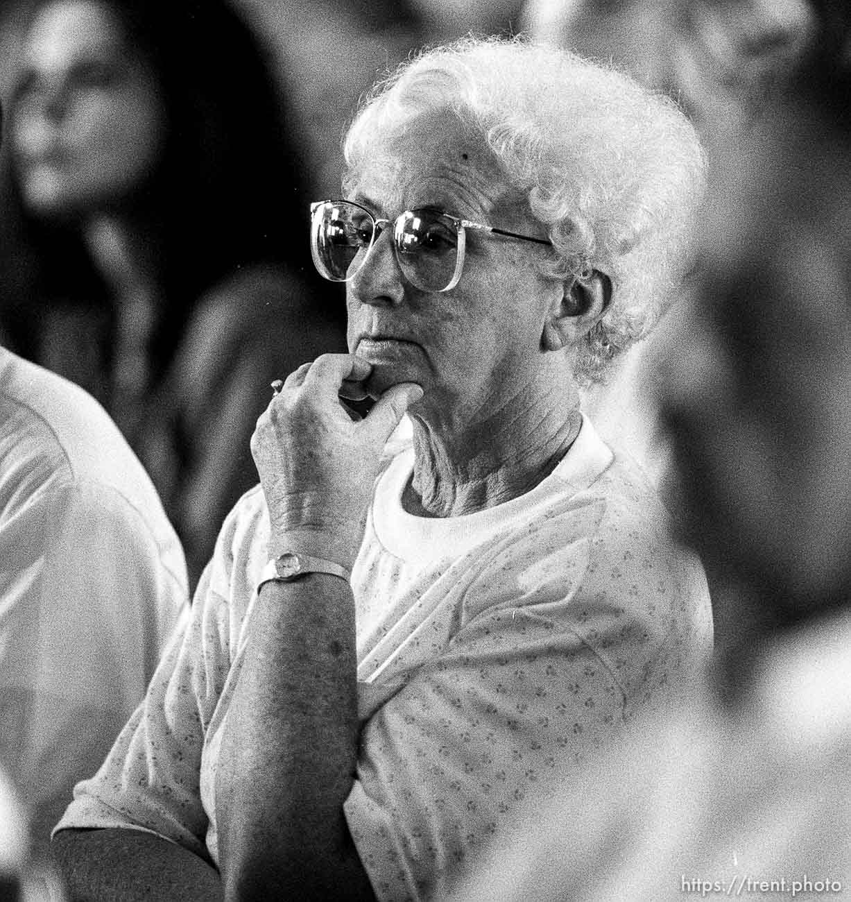
[[[216,902],[212,865],[188,849],[138,830],[63,830],[51,843],[71,902],[169,899]]]

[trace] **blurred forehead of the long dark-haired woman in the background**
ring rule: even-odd
[[[32,23],[26,56],[32,63],[59,69],[81,56],[114,53],[123,40],[117,18],[96,0],[59,0],[44,7]]]

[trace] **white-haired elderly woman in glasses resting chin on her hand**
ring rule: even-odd
[[[685,258],[691,126],[579,58],[464,41],[382,85],[346,157],[312,242],[351,353],[276,386],[261,487],[59,824],[87,897],[443,897],[708,649],[700,566],[577,407]]]

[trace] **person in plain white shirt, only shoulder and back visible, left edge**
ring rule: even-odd
[[[114,423],[0,347],[0,767],[36,854],[187,609],[178,537]]]

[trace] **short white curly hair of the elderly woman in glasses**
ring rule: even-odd
[[[697,133],[672,100],[615,69],[522,37],[470,37],[420,51],[363,98],[343,143],[344,187],[382,136],[445,108],[526,193],[554,244],[547,272],[609,276],[611,303],[575,364],[578,382],[604,381],[689,265],[706,175]]]

